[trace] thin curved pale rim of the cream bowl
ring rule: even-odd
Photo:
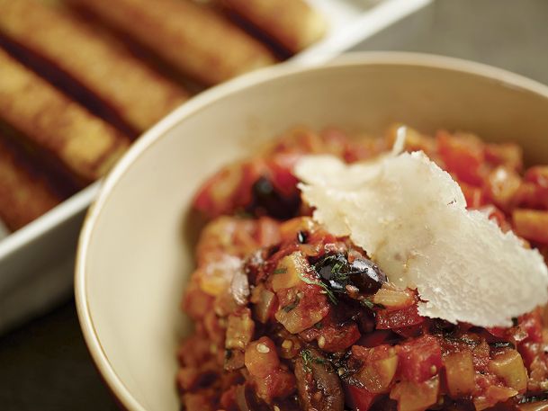
[[[94,234],[96,221],[100,219],[103,207],[110,197],[111,192],[120,182],[121,176],[126,173],[130,168],[130,165],[139,159],[139,156],[147,151],[157,139],[165,135],[168,130],[174,128],[176,124],[180,121],[184,121],[185,118],[193,115],[193,113],[202,110],[202,108],[229,94],[260,83],[274,81],[285,76],[293,76],[303,72],[323,70],[329,67],[353,67],[364,65],[394,65],[445,69],[484,77],[503,86],[518,88],[533,94],[541,95],[548,100],[548,85],[544,85],[529,79],[526,76],[521,76],[502,68],[491,67],[462,58],[452,58],[434,54],[401,51],[362,51],[343,54],[327,63],[287,62],[275,67],[266,67],[253,73],[239,76],[222,85],[216,85],[193,97],[188,102],[175,109],[174,112],[168,114],[133,143],[128,152],[121,157],[121,160],[103,180],[100,192],[95,197],[94,202],[85,215],[84,225],[80,232],[76,251],[76,311],[84,335],[85,344],[91,353],[97,370],[101,373],[103,380],[106,382],[109,389],[111,389],[112,394],[122,407],[131,411],[146,411],[146,408],[131,395],[130,390],[113,369],[112,364],[103,349],[99,335],[95,330],[94,320],[88,305],[86,291],[87,275],[85,270],[88,258],[88,248]]]

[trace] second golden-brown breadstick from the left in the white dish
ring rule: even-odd
[[[49,152],[82,185],[101,177],[129,139],[0,50],[0,119]]]

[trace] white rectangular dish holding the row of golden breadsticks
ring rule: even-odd
[[[433,0],[308,1],[328,17],[329,31],[292,58],[301,63],[333,58]],[[78,233],[99,187],[92,184],[10,236],[0,226],[0,333],[72,293]]]

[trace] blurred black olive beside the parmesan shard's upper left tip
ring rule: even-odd
[[[287,196],[276,190],[274,184],[265,176],[259,177],[251,187],[251,203],[246,211],[255,216],[270,216],[274,219],[291,219],[301,207],[298,193]]]

